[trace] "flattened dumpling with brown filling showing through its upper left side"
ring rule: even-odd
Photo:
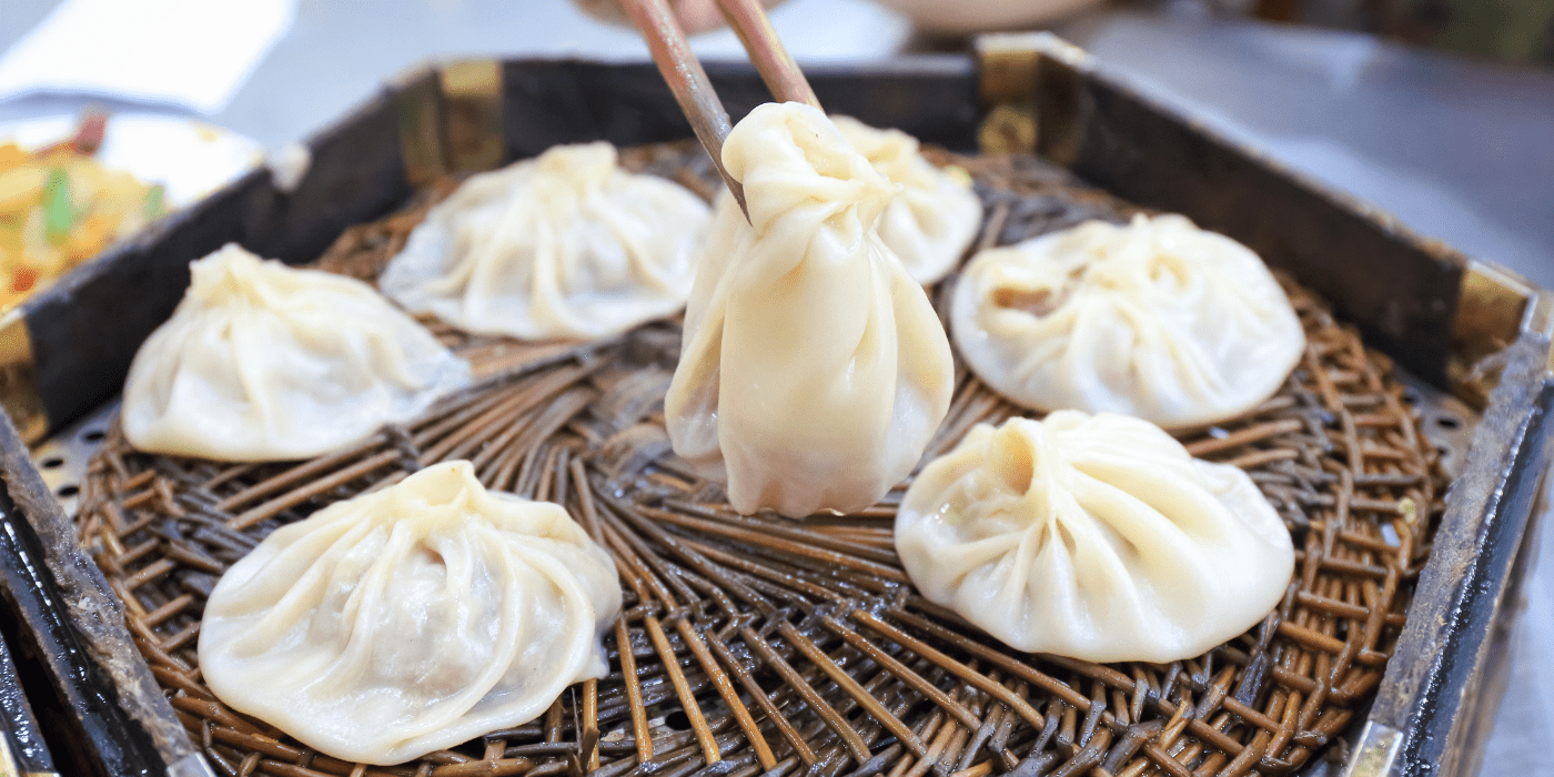
[[[1256,407],[1305,351],[1262,260],[1183,216],[1089,221],[981,252],[949,325],[967,365],[1015,402],[1166,427]]]

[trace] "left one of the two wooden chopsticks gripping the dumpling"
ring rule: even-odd
[[[659,73],[664,75],[670,92],[674,93],[674,101],[690,120],[696,140],[707,149],[707,155],[712,157],[723,182],[729,185],[735,202],[749,219],[751,211],[744,207],[744,186],[733,180],[723,166],[723,138],[729,137],[729,129],[732,129],[729,112],[718,101],[718,93],[712,90],[712,79],[707,78],[707,70],[692,53],[674,14],[670,12],[665,0],[622,0],[620,5],[626,8],[631,22],[642,31],[642,37],[648,42],[648,51],[653,53],[653,62],[659,65]]]

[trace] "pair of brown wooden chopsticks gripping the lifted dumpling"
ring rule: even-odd
[[[712,163],[716,165],[724,183],[729,185],[729,191],[733,193],[744,218],[749,219],[749,208],[744,207],[744,186],[729,177],[729,171],[723,168],[723,138],[732,129],[729,112],[723,109],[716,92],[712,90],[712,81],[701,67],[701,61],[692,53],[685,33],[674,20],[667,0],[623,0],[622,5],[637,30],[642,31],[642,37],[646,39],[653,62],[659,65],[659,73],[664,75],[664,81],[670,84],[681,110],[690,120],[696,140],[707,149]],[[821,107],[821,101],[816,99],[810,82],[799,71],[793,54],[782,45],[771,20],[766,19],[760,0],[718,0],[718,9],[740,36],[744,51],[755,64],[755,71],[761,75],[766,89],[779,103],[807,103]]]

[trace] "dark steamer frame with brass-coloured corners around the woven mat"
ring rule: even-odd
[[[710,75],[741,117],[766,99],[746,67]],[[822,103],[946,148],[1038,151],[1141,205],[1259,250],[1336,306],[1366,342],[1483,409],[1378,696],[1355,775],[1473,774],[1515,615],[1524,536],[1548,457],[1551,298],[1335,196],[1141,96],[1051,36],[995,36],[977,57],[811,70]],[[289,191],[258,171],[120,244],[0,322],[0,552],[8,642],[45,727],[79,774],[205,774],[123,625],[123,605],[28,462],[36,441],[109,401],[140,342],[228,241],[309,261],[415,185],[555,143],[688,135],[651,65],[462,61],[412,73],[309,143]],[[1523,563],[1518,564],[1518,559]],[[17,645],[12,634],[23,637]],[[1504,654],[1501,650],[1500,656]],[[23,679],[23,682],[28,682]],[[1321,765],[1318,765],[1321,766]]]

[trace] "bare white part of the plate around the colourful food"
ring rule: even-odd
[[[79,117],[39,117],[0,123],[0,143],[26,151],[68,138]],[[146,183],[162,183],[169,208],[205,194],[264,163],[264,149],[236,132],[204,121],[157,113],[112,113],[95,159]]]

